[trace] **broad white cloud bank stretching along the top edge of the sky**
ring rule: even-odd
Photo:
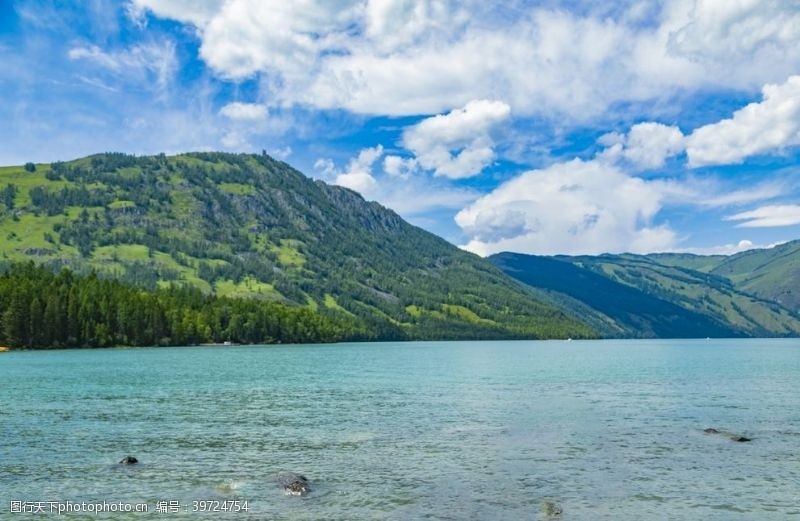
[[[365,114],[435,114],[503,99],[521,115],[586,119],[616,102],[687,88],[754,89],[800,68],[800,6],[779,0],[575,13],[557,1],[133,5],[196,27],[201,57],[218,75],[260,76],[273,103]]]

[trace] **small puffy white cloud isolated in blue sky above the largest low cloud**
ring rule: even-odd
[[[511,108],[502,101],[474,100],[464,108],[422,120],[403,132],[403,146],[435,175],[461,179],[479,174],[495,158],[491,132]]]

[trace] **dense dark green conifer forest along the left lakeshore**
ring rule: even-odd
[[[53,273],[33,263],[0,275],[0,345],[12,348],[362,340],[357,325],[306,308],[204,295],[195,288],[143,290],[95,274]]]

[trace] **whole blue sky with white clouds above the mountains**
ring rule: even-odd
[[[479,255],[800,238],[799,2],[494,4],[0,0],[0,164],[265,150]]]

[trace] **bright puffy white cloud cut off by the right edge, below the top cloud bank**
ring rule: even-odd
[[[765,85],[762,92],[762,101],[692,132],[686,149],[690,166],[740,163],[754,154],[800,144],[800,76]]]

